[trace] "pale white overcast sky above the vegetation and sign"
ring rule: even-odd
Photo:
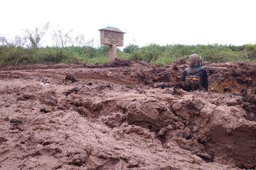
[[[0,0],[0,35],[73,29],[100,44],[98,29],[126,32],[124,46],[256,43],[255,0]],[[50,33],[44,44],[50,45]]]

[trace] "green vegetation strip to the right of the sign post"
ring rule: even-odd
[[[197,53],[207,62],[255,62],[256,45],[148,45],[124,48],[119,57],[143,60],[154,64],[169,64],[181,57]]]

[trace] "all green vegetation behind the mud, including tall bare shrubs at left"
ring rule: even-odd
[[[70,36],[72,30],[53,30],[53,47],[42,47],[49,24],[41,29],[26,30],[25,35],[9,40],[0,35],[0,66],[9,64],[55,64],[82,62],[96,64],[108,62],[108,47],[93,47],[93,40],[84,35]],[[117,50],[122,60],[140,60],[153,64],[169,64],[197,53],[207,62],[256,62],[256,45],[128,45]]]

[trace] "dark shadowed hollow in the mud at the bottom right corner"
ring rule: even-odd
[[[215,149],[216,153],[225,154],[223,159],[232,158],[241,169],[255,169],[256,130],[241,127],[231,132],[218,128],[206,142],[207,149]],[[220,163],[223,160],[220,160]]]

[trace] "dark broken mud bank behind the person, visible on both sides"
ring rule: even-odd
[[[255,63],[206,64],[209,91],[217,93],[251,91],[256,88]],[[154,87],[180,87],[181,75],[186,65],[170,64],[168,67],[147,67],[137,74],[138,79],[146,85]],[[164,83],[164,84],[163,84]]]

